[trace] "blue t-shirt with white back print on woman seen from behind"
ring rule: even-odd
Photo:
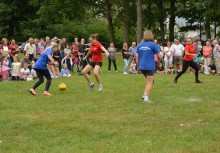
[[[152,42],[141,42],[137,46],[138,64],[140,70],[152,70],[154,71],[154,55],[160,52],[158,46]]]

